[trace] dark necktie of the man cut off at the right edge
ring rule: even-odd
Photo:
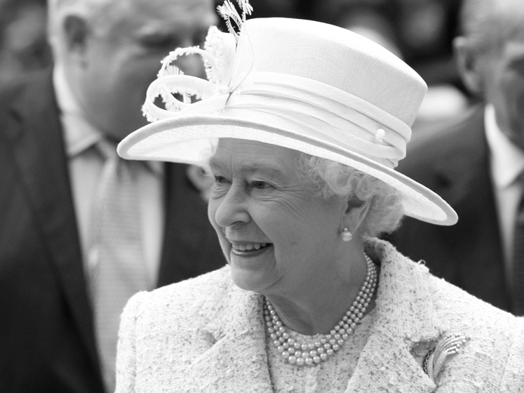
[[[524,191],[524,174],[520,175]],[[513,230],[513,313],[524,315],[524,192],[520,194]]]

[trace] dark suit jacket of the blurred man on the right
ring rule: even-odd
[[[397,170],[442,196],[459,221],[442,227],[406,218],[390,240],[438,277],[511,310],[488,156],[483,107],[408,147]]]

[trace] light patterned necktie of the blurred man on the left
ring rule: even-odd
[[[142,163],[121,159],[106,140],[97,147],[105,164],[91,216],[90,288],[102,373],[113,392],[120,314],[134,293],[149,289],[134,174]]]

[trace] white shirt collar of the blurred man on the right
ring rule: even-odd
[[[509,187],[524,171],[524,152],[504,135],[495,118],[495,107],[486,105],[485,133],[491,152],[492,178],[495,187]]]

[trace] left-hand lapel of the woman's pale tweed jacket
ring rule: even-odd
[[[207,321],[202,330],[217,341],[194,362],[189,375],[201,392],[273,392],[262,299],[230,280],[226,283],[201,309]]]

